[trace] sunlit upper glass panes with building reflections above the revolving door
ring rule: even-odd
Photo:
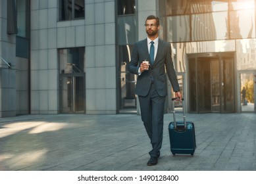
[[[166,12],[172,15],[167,17],[167,39],[170,42],[242,39],[256,36],[253,0],[167,0]]]

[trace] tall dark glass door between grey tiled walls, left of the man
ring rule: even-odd
[[[59,49],[59,109],[61,113],[86,113],[84,47]]]

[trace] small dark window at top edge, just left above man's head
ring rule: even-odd
[[[134,0],[118,0],[117,1],[117,13],[122,14],[134,14],[135,13],[135,1]]]

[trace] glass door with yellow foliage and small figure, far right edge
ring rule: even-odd
[[[256,72],[240,73],[240,109],[242,112],[256,112]]]

